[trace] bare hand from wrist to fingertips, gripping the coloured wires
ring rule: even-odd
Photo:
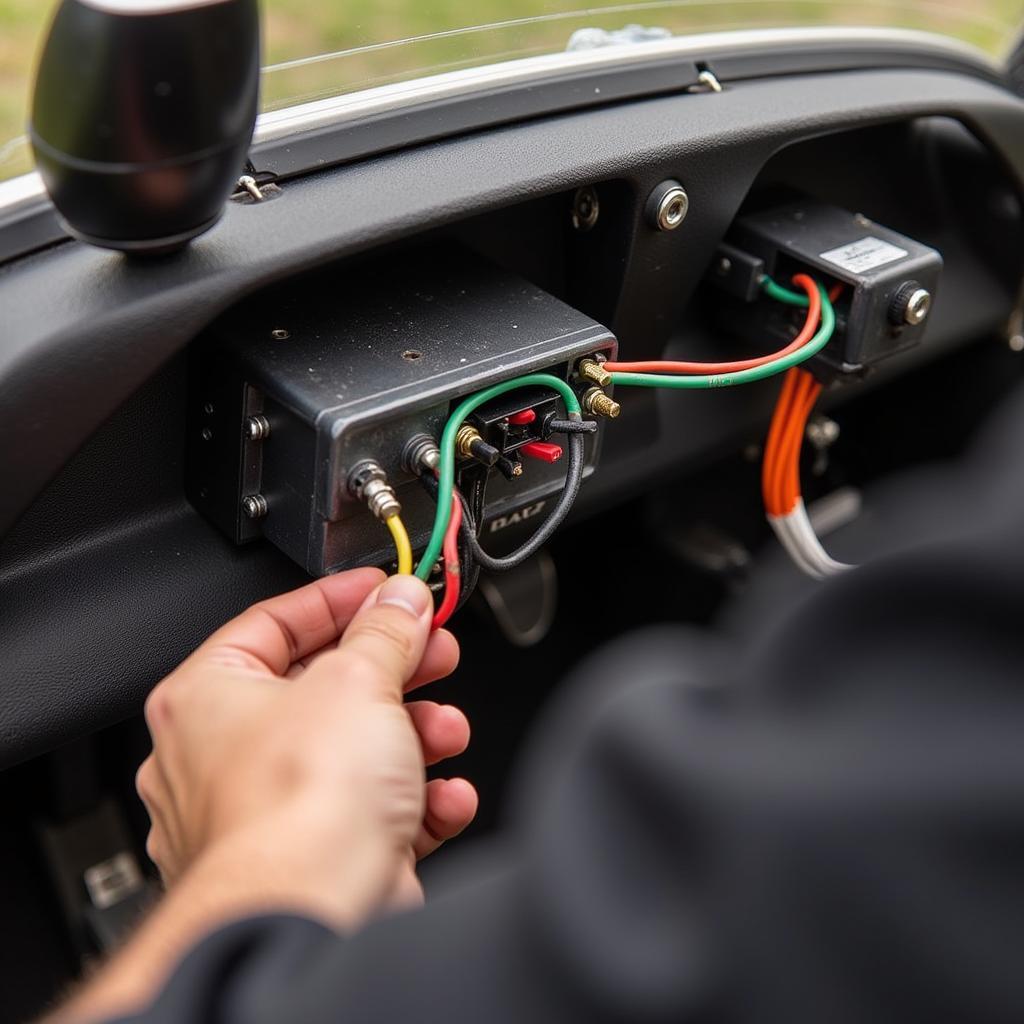
[[[463,779],[424,783],[425,764],[465,749],[465,716],[402,703],[458,663],[431,611],[414,578],[328,577],[254,605],[157,686],[137,786],[169,886],[202,865],[239,909],[336,927],[421,895],[415,858],[477,804]]]

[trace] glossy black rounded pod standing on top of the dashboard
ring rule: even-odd
[[[258,92],[256,0],[63,0],[30,137],[68,228],[150,253],[207,230],[243,172]]]

